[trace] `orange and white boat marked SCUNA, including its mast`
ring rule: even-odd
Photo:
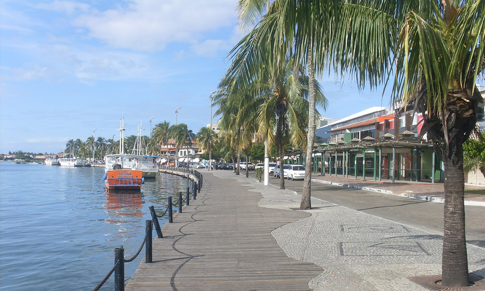
[[[119,154],[106,155],[104,185],[107,190],[113,191],[140,191],[145,183],[143,171],[138,165],[138,155],[124,153],[125,124],[121,119],[120,150]]]

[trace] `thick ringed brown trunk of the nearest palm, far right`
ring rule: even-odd
[[[467,245],[465,237],[465,178],[463,173],[463,147],[456,143],[457,162],[453,164],[446,153],[445,204],[443,225],[443,253],[441,282],[443,286],[467,286],[469,281]]]

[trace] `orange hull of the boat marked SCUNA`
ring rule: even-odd
[[[104,176],[104,185],[108,190],[140,191],[145,182],[141,170],[109,170]]]

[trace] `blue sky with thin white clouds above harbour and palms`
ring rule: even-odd
[[[0,153],[62,152],[70,139],[119,137],[163,121],[198,132],[210,92],[242,38],[237,0],[2,0]],[[338,120],[388,106],[382,89],[319,81]],[[175,109],[178,109],[176,116]],[[215,112],[216,108],[212,108]],[[213,118],[217,122],[217,117]],[[96,130],[95,130],[96,129]]]

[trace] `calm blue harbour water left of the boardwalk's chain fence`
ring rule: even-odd
[[[141,194],[107,193],[103,174],[0,162],[1,291],[93,290],[113,267],[115,247],[123,245],[127,259],[138,251],[148,207],[161,213],[168,194],[187,189],[185,179],[161,174],[146,180]],[[125,279],[144,255],[125,264]],[[113,289],[112,275],[101,290]]]

